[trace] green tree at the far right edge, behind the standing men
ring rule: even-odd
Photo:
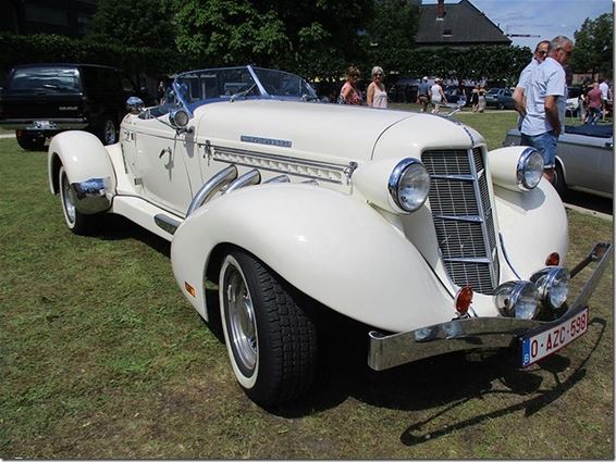
[[[605,13],[595,20],[587,17],[579,30],[574,33],[576,46],[570,65],[575,72],[591,72],[612,75],[614,72],[613,14]]]

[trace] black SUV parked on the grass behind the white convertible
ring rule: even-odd
[[[87,129],[103,145],[118,141],[126,99],[147,99],[121,70],[94,64],[26,64],[9,73],[0,92],[0,127],[20,146],[39,150],[47,137]]]

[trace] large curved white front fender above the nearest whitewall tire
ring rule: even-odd
[[[206,267],[221,244],[249,251],[324,305],[381,329],[418,328],[454,314],[452,297],[415,246],[345,193],[260,185],[190,215],[173,237],[171,261],[177,284],[204,317]]]

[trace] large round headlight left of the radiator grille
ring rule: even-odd
[[[417,159],[404,159],[390,175],[387,186],[397,207],[406,212],[415,212],[428,198],[430,175]]]

